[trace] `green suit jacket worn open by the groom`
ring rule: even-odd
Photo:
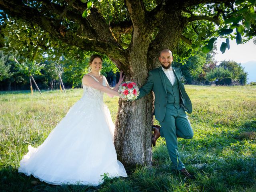
[[[176,80],[179,84],[180,89],[180,106],[184,108],[184,110],[188,113],[192,112],[192,104],[188,94],[185,91],[184,85],[180,82],[182,78],[182,72],[179,68],[173,67],[173,72],[176,76]],[[166,112],[166,104],[167,104],[167,91],[164,80],[164,72],[162,67],[156,68],[148,73],[148,80],[144,86],[140,88],[140,95],[138,98],[142,98],[151,90],[153,90],[155,94],[155,110],[154,114],[157,120],[160,122],[164,120],[165,112]]]

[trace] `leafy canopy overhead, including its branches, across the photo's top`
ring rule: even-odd
[[[175,27],[169,17],[182,32],[174,44],[171,38],[162,41],[168,41],[163,44],[181,60],[198,47],[209,52],[218,37],[224,38],[220,50],[225,52],[229,38],[240,44],[256,33],[255,0],[1,0],[0,8],[0,45],[20,49],[33,60],[46,52],[49,58],[66,54],[79,60],[84,50],[125,60],[140,25],[147,26],[145,35],[154,48],[160,36],[168,36],[168,28]]]

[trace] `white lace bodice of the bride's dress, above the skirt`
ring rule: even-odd
[[[96,79],[94,76],[92,76],[90,74],[87,74],[87,75],[91,76],[92,78],[94,78],[94,80],[99,82],[98,79]],[[102,85],[107,86],[106,85],[106,78],[104,76],[103,76],[102,80],[103,80]],[[82,83],[82,85],[83,85],[83,89],[84,89],[84,96],[83,96],[84,99],[98,100],[100,102],[103,102],[104,92],[102,92],[100,90],[97,90],[97,89],[94,89],[90,86],[84,85],[83,83]]]

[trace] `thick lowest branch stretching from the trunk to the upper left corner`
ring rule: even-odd
[[[26,6],[24,4],[17,5],[15,0],[9,0],[8,2],[5,0],[0,0],[0,8],[8,12],[10,16],[18,15],[19,18],[22,18],[23,20],[38,24],[43,30],[47,31],[49,34],[60,39],[66,44],[80,47],[83,50],[98,51],[110,56],[110,58],[125,60],[124,50],[119,47],[120,45],[116,46],[117,43],[88,39],[85,38],[80,31],[74,33],[72,30],[67,30],[64,33],[58,20],[54,18],[47,18],[35,8]]]

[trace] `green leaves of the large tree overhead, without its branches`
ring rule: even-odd
[[[31,6],[40,8],[44,5],[42,2],[28,1]],[[115,33],[114,26],[122,26],[123,23],[130,22],[130,17],[126,4],[122,0],[112,1],[97,1],[97,0],[81,0],[84,3],[84,12],[81,17],[87,21],[87,16],[90,11],[95,7],[99,14],[105,18],[105,22],[110,25],[114,32],[115,38],[118,43],[124,48],[128,48],[132,41],[132,30],[128,30],[123,33]],[[52,2],[54,5],[67,6],[66,2],[56,0]],[[72,3],[71,3],[72,4]],[[143,0],[145,9],[150,12],[157,8],[158,1],[155,0]],[[184,18],[193,16],[208,16],[211,17],[214,22],[206,20],[194,20],[189,22],[182,35],[191,41],[191,45],[185,43],[183,40],[179,40],[178,46],[174,46],[173,53],[183,63],[190,56],[194,56],[199,49],[202,49],[204,53],[213,49],[214,42],[217,38],[234,39],[238,44],[245,43],[256,35],[256,13],[255,2],[251,0],[236,0],[232,3],[220,3],[220,4],[198,4],[190,7],[184,7],[181,12]],[[70,12],[77,12],[71,5]],[[74,21],[70,20],[64,13],[49,12],[44,14],[48,18],[54,18],[61,20],[60,31],[63,34],[66,30],[72,31],[74,36],[78,34],[78,30],[81,26]],[[90,21],[89,21],[90,22]],[[0,44],[2,47],[8,50],[18,50],[24,58],[28,58],[30,61],[36,60],[37,62],[44,62],[40,60],[42,56],[47,53],[48,60],[58,60],[61,56],[66,58],[76,58],[78,49],[74,47],[74,44],[66,44],[61,42],[60,38],[52,37],[50,34],[42,30],[36,24],[30,22],[24,22],[22,20],[7,16],[5,12],[1,11],[0,14]],[[234,32],[236,29],[236,32]],[[158,34],[158,26],[155,27],[152,32],[152,41]],[[81,34],[86,38],[85,34]],[[79,44],[79,42],[77,42]],[[225,52],[226,48],[229,48],[228,42],[223,42],[221,51]]]

